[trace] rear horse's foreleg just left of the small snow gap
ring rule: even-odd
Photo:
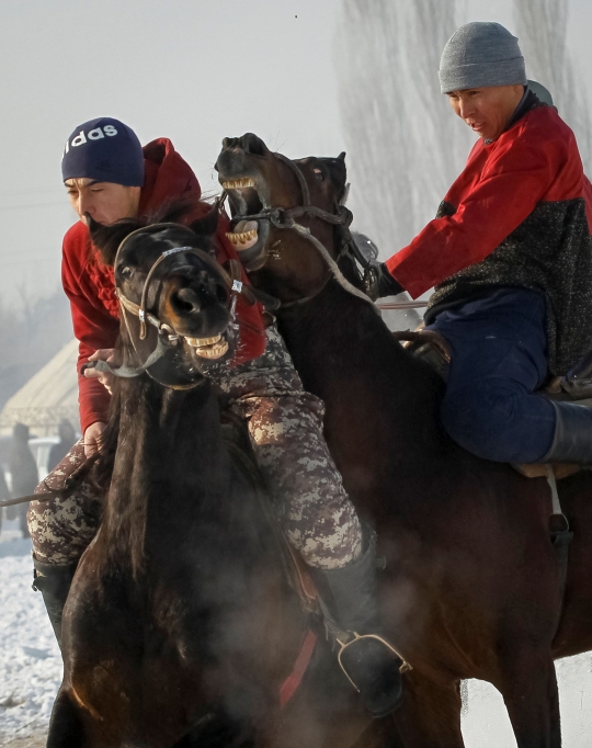
[[[460,681],[436,683],[412,670],[394,721],[399,733],[394,746],[405,748],[464,748],[460,732]]]

